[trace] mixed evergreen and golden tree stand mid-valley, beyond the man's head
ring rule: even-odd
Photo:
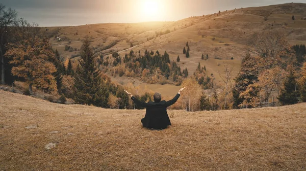
[[[187,68],[181,71],[181,67],[174,61],[170,61],[169,54],[165,51],[148,52],[144,55],[140,51],[130,51],[123,58],[117,53],[112,54],[112,58],[100,57],[97,65],[102,71],[109,71],[113,77],[123,75],[127,77],[140,77],[142,81],[155,84],[175,84],[180,85],[184,78],[188,77]]]

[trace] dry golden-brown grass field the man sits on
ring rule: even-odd
[[[306,104],[168,111],[52,104],[0,90],[0,170],[305,170]]]

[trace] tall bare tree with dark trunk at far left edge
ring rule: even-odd
[[[9,8],[5,10],[5,6],[0,4],[0,56],[1,56],[1,83],[5,84],[5,44],[8,28],[12,26],[16,20],[17,12]]]

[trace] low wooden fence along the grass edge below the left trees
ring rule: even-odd
[[[11,87],[0,86],[0,89],[5,90],[5,91],[10,91],[10,92],[18,93],[18,94],[24,94],[22,91],[20,91],[18,89],[15,89],[15,88],[11,88]],[[50,102],[55,102],[57,104],[61,103],[61,100],[59,100],[59,99],[52,99],[52,96],[50,96],[50,95],[44,95],[44,94],[31,93],[30,92],[30,96],[35,97],[35,98],[39,98],[39,99],[43,99],[43,100],[49,100]],[[66,105],[72,105],[72,104],[74,104],[74,101],[66,100],[65,104]]]

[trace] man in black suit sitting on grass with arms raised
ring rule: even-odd
[[[184,88],[181,88],[180,91],[175,95],[175,97],[169,101],[161,101],[161,94],[155,93],[153,96],[154,101],[143,102],[135,98],[131,92],[128,92],[126,90],[124,91],[130,95],[131,99],[137,105],[146,108],[145,116],[141,119],[142,126],[151,129],[165,129],[168,125],[171,125],[169,116],[167,114],[167,107],[173,105],[176,100],[179,99],[180,93],[184,90]]]

